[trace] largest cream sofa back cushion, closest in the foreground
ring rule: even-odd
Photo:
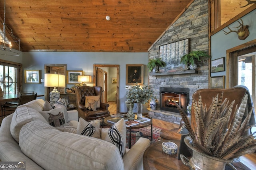
[[[60,132],[42,121],[31,121],[22,127],[19,145],[26,156],[44,169],[124,169],[119,150],[114,145],[92,137]]]

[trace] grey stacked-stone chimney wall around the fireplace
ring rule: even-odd
[[[155,42],[149,50],[149,59],[159,57],[159,46],[189,38],[189,51],[209,51],[208,37],[208,0],[194,0],[188,9],[166,30],[164,35]],[[197,63],[198,74],[152,76],[149,74],[149,85],[154,90],[154,96],[159,101],[160,87],[180,87],[190,89],[190,103],[192,94],[202,88],[208,88],[209,61]],[[180,123],[181,117],[170,113],[150,110],[148,114],[156,119]]]

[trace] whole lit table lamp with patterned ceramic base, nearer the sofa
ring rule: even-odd
[[[44,86],[54,88],[50,92],[50,104],[54,105],[60,98],[60,92],[58,92],[56,87],[65,87],[65,75],[50,73],[44,74]]]

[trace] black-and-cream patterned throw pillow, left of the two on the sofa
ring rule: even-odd
[[[95,137],[100,139],[100,120],[90,121],[88,123],[82,117],[79,118],[76,133],[79,135]]]

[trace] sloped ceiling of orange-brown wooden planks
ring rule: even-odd
[[[22,51],[147,52],[190,1],[6,0],[6,24]]]

